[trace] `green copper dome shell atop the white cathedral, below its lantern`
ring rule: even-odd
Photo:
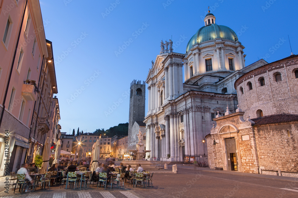
[[[201,43],[204,41],[214,40],[217,38],[228,39],[231,41],[238,41],[238,37],[236,33],[227,26],[219,26],[215,23],[209,24],[207,26],[201,27],[193,37],[191,37],[190,41],[186,47],[186,53],[190,50],[193,45],[196,43]]]

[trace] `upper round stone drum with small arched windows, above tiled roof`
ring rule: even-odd
[[[238,78],[235,82],[240,108],[245,116],[257,118],[257,110],[263,115],[278,113],[298,114],[298,78],[294,71],[298,68],[298,57],[282,59],[271,64],[260,66]],[[275,81],[274,75],[281,74],[282,80]],[[264,77],[265,85],[261,86],[259,79]],[[249,90],[248,83],[252,83]],[[243,94],[240,88],[243,88]]]

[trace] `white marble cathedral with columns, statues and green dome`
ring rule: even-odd
[[[215,23],[208,13],[187,44],[186,53],[175,53],[172,41],[161,41],[152,61],[148,84],[146,150],[150,159],[183,161],[185,155],[207,157],[205,136],[217,115],[237,109],[235,80],[259,66],[245,66],[244,46],[235,32]],[[184,69],[184,80],[183,80]]]

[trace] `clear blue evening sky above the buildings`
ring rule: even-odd
[[[204,26],[208,6],[218,25],[238,35],[246,66],[261,58],[270,63],[290,56],[288,35],[293,53],[298,50],[294,1],[41,0],[40,4],[46,38],[53,43],[62,132],[78,127],[94,132],[128,122],[131,81],[146,80],[162,39],[172,37],[174,52],[185,53],[189,39]],[[178,42],[180,38],[183,42]],[[148,93],[146,113],[147,99]]]

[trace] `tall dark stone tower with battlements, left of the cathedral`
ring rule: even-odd
[[[143,122],[145,117],[145,82],[133,80],[130,87],[128,144],[132,142],[132,126],[135,121]]]

